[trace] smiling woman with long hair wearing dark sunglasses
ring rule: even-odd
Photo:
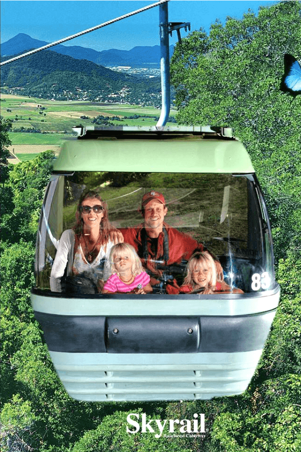
[[[69,285],[83,287],[81,292],[91,285],[87,292],[97,292],[96,286],[101,291],[103,281],[110,276],[109,255],[114,242],[123,242],[123,236],[111,226],[106,203],[96,191],[84,192],[77,206],[74,228],[61,236],[51,270],[50,289],[62,292],[61,278],[65,274]]]

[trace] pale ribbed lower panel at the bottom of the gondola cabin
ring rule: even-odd
[[[50,355],[68,394],[77,400],[96,402],[206,400],[241,394],[261,352]]]

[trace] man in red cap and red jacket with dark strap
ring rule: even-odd
[[[182,260],[188,261],[194,252],[206,251],[203,244],[164,221],[167,210],[163,194],[152,190],[142,197],[140,211],[143,223],[135,228],[120,230],[124,242],[135,248],[150,275],[150,284],[155,287],[162,283],[163,270],[166,269],[168,272],[168,266],[181,264]],[[222,273],[219,262],[216,262],[216,266],[218,273]],[[165,281],[167,292],[176,293],[173,286],[177,287],[177,281],[171,276],[168,279],[169,281]]]

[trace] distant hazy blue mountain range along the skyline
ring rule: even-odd
[[[1,44],[1,56],[6,57],[24,53],[31,49],[37,49],[49,43],[39,41],[25,33],[19,33],[14,38]],[[89,49],[81,46],[64,46],[58,44],[51,47],[51,50],[71,56],[78,60],[92,61],[101,66],[132,66],[143,67],[144,65],[152,65],[152,67],[160,67],[160,46],[137,46],[131,50],[97,50]],[[173,54],[174,46],[170,46],[170,55]]]

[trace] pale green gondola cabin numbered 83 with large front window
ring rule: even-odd
[[[68,394],[85,401],[154,401],[244,392],[280,293],[267,210],[245,148],[227,128],[78,132],[54,162],[32,290],[36,318]],[[100,194],[115,230],[130,233],[143,231],[143,196],[163,195],[167,234],[163,255],[152,264],[153,292],[91,291],[84,278],[74,290],[73,250],[55,277],[58,250],[65,232],[74,231],[85,190]],[[173,242],[169,231],[176,231]],[[179,290],[187,285],[193,255],[185,240],[220,263],[220,290],[218,284],[207,293]],[[140,245],[145,264],[142,239]],[[94,279],[106,279],[107,264],[111,268],[104,260],[91,269]]]

